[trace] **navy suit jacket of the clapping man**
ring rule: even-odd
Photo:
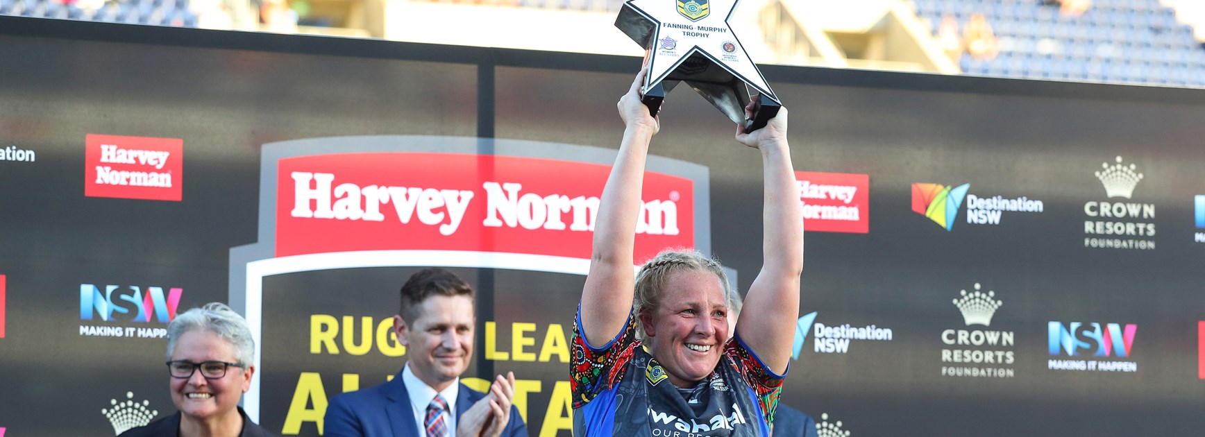
[[[455,398],[455,419],[469,411],[486,394],[472,390],[464,384]],[[323,425],[325,436],[365,436],[365,437],[415,437],[419,424],[415,423],[415,413],[410,407],[410,392],[402,382],[401,372],[393,380],[364,390],[345,392],[330,398]],[[418,436],[424,437],[424,436]],[[511,406],[511,420],[502,431],[502,437],[527,437],[527,425],[519,417],[519,411]]]

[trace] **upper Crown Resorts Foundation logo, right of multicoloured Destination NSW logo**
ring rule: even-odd
[[[1154,240],[1150,237],[1154,236],[1154,205],[1112,200],[1131,199],[1144,175],[1138,172],[1138,165],[1125,165],[1122,157],[1115,161],[1113,165],[1103,163],[1103,170],[1095,172],[1110,200],[1083,203],[1087,215],[1083,247],[1153,250]]]

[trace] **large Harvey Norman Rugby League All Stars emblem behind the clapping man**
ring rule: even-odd
[[[489,154],[481,153],[483,143]],[[440,266],[470,283],[488,280],[478,285],[492,296],[477,326],[484,344],[476,353],[484,360],[462,380],[484,390],[495,364],[537,377],[517,382],[523,395],[515,403],[528,427],[569,430],[571,394],[562,379],[571,325],[537,323],[542,313],[517,302],[576,305],[578,295],[565,287],[580,290],[589,270],[615,153],[435,136],[264,144],[259,240],[230,250],[230,302],[255,338],[247,414],[283,435],[304,435],[322,429],[330,396],[387,380],[406,348],[396,343],[392,318],[378,313],[395,308],[396,280]],[[707,181],[698,164],[648,158],[637,265],[668,247],[711,252]],[[327,293],[333,288],[354,291],[335,296]],[[345,297],[359,303],[345,308]],[[304,331],[308,338],[296,336]]]

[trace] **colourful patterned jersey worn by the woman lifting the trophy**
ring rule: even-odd
[[[693,389],[678,389],[635,339],[635,319],[628,314],[623,331],[594,348],[581,332],[578,307],[569,370],[575,436],[770,435],[783,376],[774,374],[734,336],[709,377]]]

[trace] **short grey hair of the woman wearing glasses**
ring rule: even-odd
[[[225,303],[210,302],[176,315],[167,325],[167,360],[171,360],[171,353],[176,350],[176,341],[189,331],[213,332],[234,346],[240,366],[248,366],[255,360],[255,341],[251,337],[247,320]]]

